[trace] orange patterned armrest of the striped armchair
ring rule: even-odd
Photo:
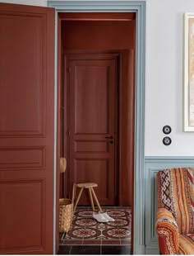
[[[165,208],[158,209],[155,229],[159,236],[160,253],[177,254],[179,247],[178,225],[170,211]]]

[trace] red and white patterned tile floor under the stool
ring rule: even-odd
[[[130,207],[103,207],[114,222],[99,223],[90,207],[78,207],[72,227],[60,234],[60,245],[131,245],[132,211]]]

